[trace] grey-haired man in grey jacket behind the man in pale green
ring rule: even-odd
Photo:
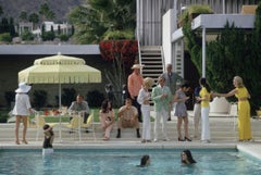
[[[183,83],[183,77],[179,76],[177,73],[172,71],[172,64],[166,64],[166,72],[163,73],[161,76],[165,78],[165,86],[167,86],[171,89],[172,95],[175,95],[175,91],[177,89],[177,83]],[[170,101],[169,104],[169,118],[167,121],[171,121],[171,111],[175,108],[175,103],[173,101]]]

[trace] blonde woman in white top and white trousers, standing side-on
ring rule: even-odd
[[[150,136],[150,92],[149,89],[153,86],[154,80],[150,77],[144,79],[144,87],[139,90],[137,98],[141,105],[141,113],[144,116],[142,123],[142,140],[141,142],[151,142]]]

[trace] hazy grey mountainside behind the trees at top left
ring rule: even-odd
[[[27,12],[27,16],[32,13],[39,13],[40,5],[47,3],[50,10],[55,14],[55,22],[67,21],[67,14],[71,9],[83,4],[86,0],[0,0],[3,15],[13,17],[15,22],[20,21],[20,13]]]

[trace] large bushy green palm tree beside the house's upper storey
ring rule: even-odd
[[[133,0],[89,0],[70,13],[78,43],[97,43],[113,32],[130,30],[134,36],[136,2]]]

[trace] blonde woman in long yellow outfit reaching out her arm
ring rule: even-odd
[[[227,93],[214,93],[217,97],[235,96],[238,99],[238,141],[249,141],[252,139],[251,124],[250,124],[250,104],[248,99],[250,95],[243,83],[243,78],[235,76],[233,79],[235,89]]]

